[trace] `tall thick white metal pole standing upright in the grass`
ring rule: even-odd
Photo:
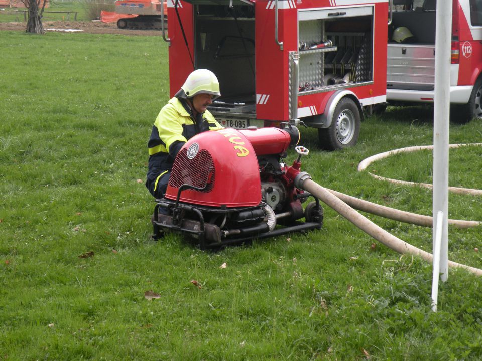
[[[441,280],[448,278],[448,143],[450,114],[450,43],[452,0],[437,2],[435,26],[435,97],[433,113],[433,219],[443,212],[440,246]],[[436,232],[433,229],[433,247]],[[434,252],[435,250],[432,249]]]

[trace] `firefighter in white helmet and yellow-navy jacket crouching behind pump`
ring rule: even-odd
[[[159,112],[148,142],[146,179],[155,198],[164,197],[174,158],[184,143],[201,132],[223,128],[206,109],[220,95],[214,73],[197,69]]]

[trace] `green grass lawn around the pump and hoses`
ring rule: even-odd
[[[169,93],[161,37],[2,32],[0,48],[0,360],[482,358],[480,278],[451,270],[434,313],[430,264],[372,247],[327,207],[321,230],[250,247],[152,241],[144,180]],[[320,151],[316,131],[301,131],[302,168],[319,184],[431,215],[429,190],[356,171],[370,155],[431,144],[429,110],[389,108],[340,152]],[[450,142],[480,142],[481,132],[480,121],[454,124]],[[451,185],[482,188],[481,147],[450,159]],[[424,152],[369,170],[432,180]],[[482,220],[479,198],[449,203],[450,218]],[[431,229],[369,217],[431,252]],[[450,259],[482,268],[481,228],[450,227],[449,238]],[[149,290],[160,298],[146,299]]]

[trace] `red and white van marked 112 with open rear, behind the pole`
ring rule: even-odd
[[[394,0],[389,27],[388,104],[433,103],[435,0]],[[450,118],[482,118],[482,0],[453,0]],[[383,110],[383,107],[380,109]]]

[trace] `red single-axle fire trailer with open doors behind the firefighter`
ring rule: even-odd
[[[356,144],[386,101],[389,0],[168,0],[170,94],[209,69],[225,127],[302,124],[322,148]],[[174,20],[172,20],[174,19]],[[380,71],[383,69],[383,71]]]

